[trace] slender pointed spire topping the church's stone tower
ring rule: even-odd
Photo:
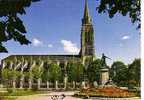
[[[91,18],[90,18],[90,15],[89,15],[88,1],[87,0],[85,0],[84,16],[83,16],[83,19],[82,19],[82,23],[83,24],[91,23]]]

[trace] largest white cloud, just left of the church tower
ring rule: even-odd
[[[75,43],[72,43],[72,41],[69,40],[61,40],[61,43],[63,44],[64,51],[66,53],[79,53],[79,48]]]

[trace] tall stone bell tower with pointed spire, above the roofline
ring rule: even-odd
[[[95,55],[94,29],[89,15],[87,0],[85,0],[84,16],[82,18],[80,55],[81,57],[93,57]]]

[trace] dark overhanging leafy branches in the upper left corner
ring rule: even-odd
[[[4,42],[14,40],[21,45],[29,44],[20,15],[26,14],[25,8],[40,0],[0,0],[0,52],[8,52]]]

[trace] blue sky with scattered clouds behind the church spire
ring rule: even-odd
[[[128,16],[98,14],[99,1],[88,0],[89,12],[95,31],[96,57],[102,53],[114,61],[131,63],[140,57],[140,32]],[[81,19],[84,0],[41,0],[26,8],[20,16],[32,42],[21,46],[13,40],[5,43],[9,53],[1,53],[0,59],[13,54],[78,54],[80,50]]]

